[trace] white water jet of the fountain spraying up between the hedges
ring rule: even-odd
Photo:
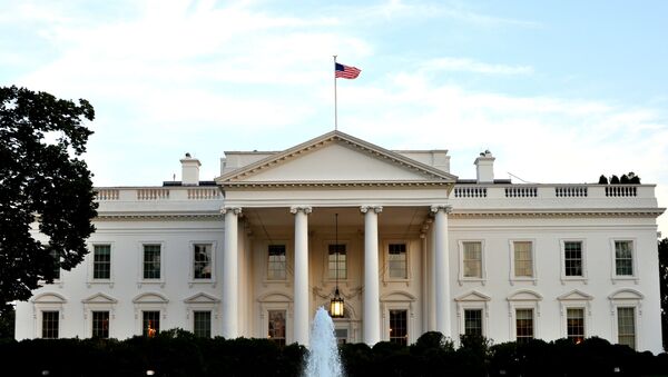
[[[334,321],[322,306],[315,312],[306,359],[306,377],[342,377]]]

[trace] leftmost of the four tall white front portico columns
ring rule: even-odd
[[[222,335],[226,339],[234,339],[238,334],[238,207],[224,207],[225,214],[225,244],[223,249],[223,327]]]

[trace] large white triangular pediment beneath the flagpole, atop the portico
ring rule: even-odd
[[[341,131],[274,153],[216,179],[267,182],[454,182],[455,176]]]

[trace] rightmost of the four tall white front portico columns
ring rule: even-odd
[[[450,321],[450,252],[448,241],[448,214],[451,206],[432,206],[434,212],[434,254],[435,254],[435,294],[436,294],[436,331],[451,336]]]

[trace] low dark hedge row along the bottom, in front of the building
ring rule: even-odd
[[[2,376],[301,376],[306,348],[268,339],[197,338],[168,330],[155,338],[0,340]],[[411,346],[379,343],[341,347],[347,377],[357,376],[660,376],[668,355],[636,353],[589,338],[491,345],[440,333]]]

